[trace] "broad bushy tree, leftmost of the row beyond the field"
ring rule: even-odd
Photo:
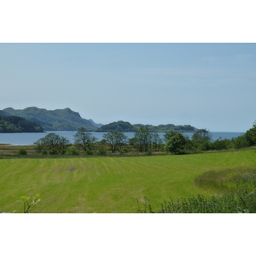
[[[66,137],[59,136],[54,132],[50,132],[45,137],[38,139],[35,143],[38,146],[38,150],[54,150],[58,154],[61,153],[62,150],[67,149],[70,142]]]

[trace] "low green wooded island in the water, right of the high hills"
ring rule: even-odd
[[[130,132],[136,131],[140,127],[147,127],[148,131],[150,132],[166,132],[166,131],[183,131],[183,132],[190,132],[190,131],[197,131],[197,129],[191,125],[131,125],[129,122],[118,121],[113,122],[108,125],[102,125],[96,131],[108,132],[108,131],[122,131],[122,132]]]

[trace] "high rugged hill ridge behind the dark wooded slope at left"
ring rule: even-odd
[[[88,131],[99,128],[92,120],[82,119],[80,114],[70,108],[47,110],[44,108],[14,109],[5,108],[0,111],[2,115],[19,116],[42,125],[44,131],[77,131],[80,127]]]

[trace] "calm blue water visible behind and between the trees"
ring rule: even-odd
[[[24,133],[0,133],[0,144],[12,144],[12,145],[32,145],[35,143],[39,138],[46,136],[49,132],[55,132],[56,134],[67,137],[67,139],[73,143],[73,135],[76,133],[76,131],[46,131],[46,132],[24,132]],[[91,132],[91,134],[97,138],[98,141],[101,141],[103,138],[103,134],[107,132]],[[164,137],[164,132],[160,132],[160,137]],[[227,138],[230,139],[232,137],[239,137],[244,132],[210,132],[212,136],[212,141],[217,140],[219,137],[222,139]],[[125,132],[125,135],[128,138],[131,138],[134,136],[134,132]],[[188,136],[191,138],[193,136],[193,133],[183,133],[184,136]]]

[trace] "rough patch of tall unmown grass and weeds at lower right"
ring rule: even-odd
[[[195,185],[213,189],[216,195],[196,195],[164,201],[154,211],[147,201],[137,212],[158,213],[249,213],[256,212],[256,168],[209,171],[195,178]]]

